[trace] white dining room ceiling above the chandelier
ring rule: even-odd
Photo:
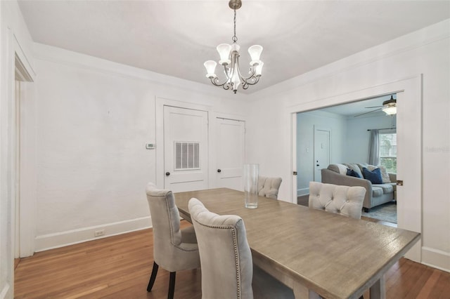
[[[203,84],[205,60],[231,44],[228,0],[23,1],[32,39]],[[450,18],[450,1],[245,1],[237,11],[240,64],[264,47],[252,93]],[[221,72],[217,69],[221,78]]]

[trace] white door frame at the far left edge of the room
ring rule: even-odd
[[[13,149],[11,150],[11,165],[13,165],[14,175],[11,185],[13,191],[13,201],[11,204],[13,211],[11,213],[11,223],[13,225],[14,239],[14,258],[24,258],[34,254],[35,247],[35,230],[36,230],[36,178],[33,175],[36,165],[35,160],[30,158],[30,150],[27,150],[29,144],[25,140],[25,135],[33,135],[32,132],[23,132],[25,128],[28,130],[30,126],[35,128],[35,124],[29,124],[29,120],[23,117],[24,109],[32,109],[32,113],[36,113],[34,102],[26,84],[34,82],[36,73],[27,60],[25,53],[18,40],[14,36],[14,96],[13,96],[13,126],[12,138]],[[21,104],[25,102],[25,105]],[[24,108],[23,106],[27,106]],[[27,124],[25,124],[27,123]],[[27,133],[27,134],[25,134]],[[30,138],[30,137],[28,137]],[[14,140],[13,140],[14,139]],[[33,145],[35,146],[35,144]]]

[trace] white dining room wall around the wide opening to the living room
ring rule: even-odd
[[[423,263],[450,271],[450,20],[349,56],[251,95],[250,154],[281,175],[278,197],[293,199],[291,113],[358,100],[357,92],[423,74]],[[391,91],[392,92],[392,91]],[[394,91],[393,91],[394,92]],[[348,95],[347,97],[345,95]],[[297,110],[300,111],[300,110]],[[267,119],[272,119],[268,124]],[[276,147],[262,140],[270,132]],[[416,132],[408,131],[409,134]],[[406,136],[407,138],[408,136]],[[276,162],[264,157],[277,157]],[[420,161],[411,161],[420,163]],[[420,212],[419,212],[420,213]]]

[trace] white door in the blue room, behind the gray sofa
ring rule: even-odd
[[[314,128],[314,181],[322,181],[322,168],[330,164],[330,131]]]

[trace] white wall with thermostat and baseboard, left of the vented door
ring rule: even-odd
[[[155,98],[210,107],[210,117],[247,109],[243,95],[214,86],[41,44],[35,54],[37,251],[150,226],[145,187],[157,181],[157,160],[145,144],[156,140]]]

